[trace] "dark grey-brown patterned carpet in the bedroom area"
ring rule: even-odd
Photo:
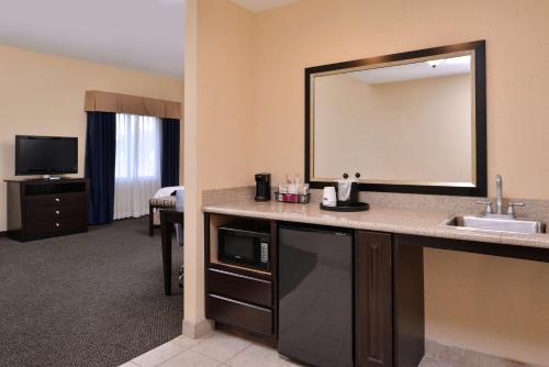
[[[119,366],[181,334],[147,218],[19,243],[0,238],[0,366]]]

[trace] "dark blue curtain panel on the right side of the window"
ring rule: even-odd
[[[161,185],[179,185],[179,120],[163,119]]]

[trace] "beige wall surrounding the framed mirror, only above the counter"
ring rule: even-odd
[[[276,182],[303,171],[305,67],[486,40],[489,176],[503,175],[507,196],[549,199],[548,11],[546,0],[302,0],[258,14],[256,145],[272,154],[255,168]]]

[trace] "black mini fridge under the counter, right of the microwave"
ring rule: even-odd
[[[352,232],[279,227],[279,353],[351,367]]]

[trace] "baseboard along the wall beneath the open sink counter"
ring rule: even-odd
[[[457,346],[448,346],[429,340],[425,341],[425,354],[435,360],[448,363],[451,366],[542,367],[541,365],[531,365]]]

